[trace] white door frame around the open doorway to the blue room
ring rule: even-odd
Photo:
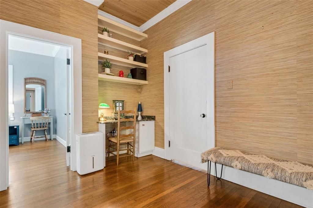
[[[75,135],[82,133],[82,63],[81,39],[26,25],[0,20],[0,191],[9,186],[8,167],[8,35],[20,35],[52,42],[72,49],[72,138],[71,170],[76,171]],[[74,90],[75,89],[75,90]],[[5,98],[5,99],[4,99]],[[75,105],[74,105],[75,104]],[[65,153],[65,152],[64,152]],[[65,154],[64,154],[65,156]],[[66,165],[66,164],[64,164]]]

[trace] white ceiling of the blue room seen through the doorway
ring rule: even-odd
[[[9,36],[9,50],[22,51],[27,53],[35,53],[44,56],[55,57],[55,54],[59,51],[60,46],[35,41],[31,39],[25,39],[16,36]]]

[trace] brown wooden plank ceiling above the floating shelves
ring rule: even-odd
[[[100,10],[141,26],[176,0],[105,0]]]

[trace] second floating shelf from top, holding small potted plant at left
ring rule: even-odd
[[[132,45],[124,41],[117,40],[112,37],[101,35],[99,33],[98,33],[98,43],[108,46],[108,47],[116,48],[122,51],[131,51],[133,53],[138,53],[138,54],[144,54],[148,52],[147,49]]]

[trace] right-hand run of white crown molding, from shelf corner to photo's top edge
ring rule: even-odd
[[[177,0],[176,2],[172,3],[170,6],[166,7],[156,16],[149,19],[146,23],[139,27],[140,32],[146,31],[148,28],[152,27],[156,23],[160,22],[165,17],[169,16],[173,12],[177,11],[181,7],[185,6],[187,3],[191,2],[192,0]]]

